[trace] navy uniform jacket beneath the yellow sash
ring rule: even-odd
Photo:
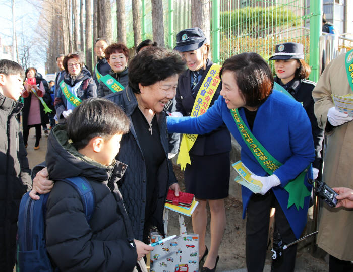
[[[206,69],[202,73],[201,80],[198,82],[195,90],[199,90],[200,86],[205,79],[208,70],[210,69],[213,62],[211,60],[207,60]],[[191,71],[188,69],[182,75],[180,75],[178,80],[178,88],[177,95],[175,95],[175,100],[177,100],[177,110],[182,113],[184,116],[190,116],[195,98],[197,95],[197,91],[195,94],[191,94]],[[216,93],[214,94],[212,101],[210,103],[210,107],[217,100],[220,90],[222,89],[222,82],[218,85]],[[207,148],[206,148],[207,147]],[[224,152],[228,152],[231,149],[231,141],[230,141],[230,133],[224,123],[219,126],[217,129],[213,130],[210,133],[206,133],[204,135],[198,135],[197,140],[189,151],[190,154],[193,155],[212,155],[212,154],[220,154]]]

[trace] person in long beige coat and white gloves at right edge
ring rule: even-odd
[[[334,108],[331,94],[353,93],[345,71],[345,54],[332,60],[312,95],[320,128],[327,135],[323,181],[330,187],[353,187],[353,122]],[[353,210],[323,205],[318,246],[330,254],[330,271],[353,271]]]

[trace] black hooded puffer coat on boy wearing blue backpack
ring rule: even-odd
[[[47,202],[46,245],[60,270],[132,271],[137,252],[116,185],[127,166],[118,162],[106,167],[80,155],[61,124],[49,135],[46,162],[55,181]],[[76,176],[85,177],[94,190],[96,205],[89,223],[77,191],[58,181]]]

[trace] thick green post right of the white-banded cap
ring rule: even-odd
[[[319,38],[322,35],[322,0],[310,1],[310,59],[309,79],[319,79]]]

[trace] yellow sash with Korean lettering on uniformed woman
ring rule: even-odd
[[[191,112],[192,117],[196,117],[204,114],[210,106],[214,93],[216,92],[220,83],[219,71],[221,66],[218,64],[212,64],[208,70],[204,81],[197,93],[193,111]],[[197,134],[184,134],[182,143],[180,144],[180,151],[178,155],[177,163],[180,164],[182,171],[185,170],[186,164],[191,165],[189,151],[195,144]]]

